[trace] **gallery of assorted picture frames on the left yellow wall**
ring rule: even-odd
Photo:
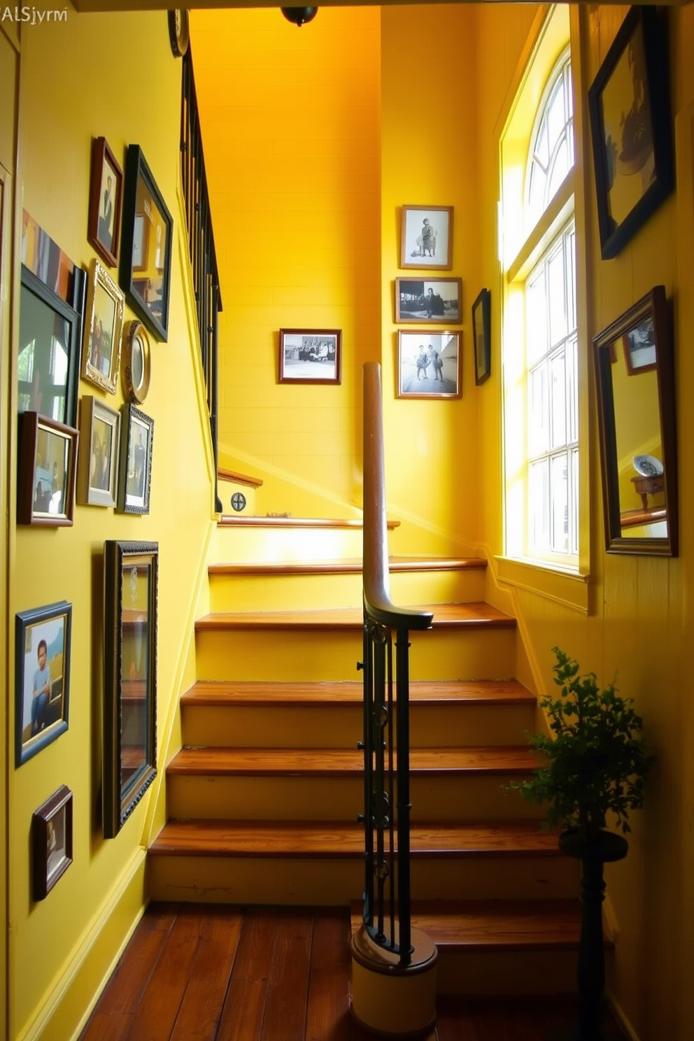
[[[83,266],[23,214],[16,519],[36,529],[71,527],[82,507],[150,512],[147,397],[152,355],[168,337],[173,219],[139,146],[118,156],[93,139],[84,212],[95,255]],[[156,775],[157,562],[156,542],[104,542],[106,838]],[[18,769],[69,729],[72,613],[59,601],[16,615]],[[33,900],[72,863],[72,808],[61,785],[33,813]]]

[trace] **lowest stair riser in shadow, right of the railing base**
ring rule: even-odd
[[[576,950],[437,949],[437,994],[575,993]]]

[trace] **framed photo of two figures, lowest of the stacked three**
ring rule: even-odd
[[[460,398],[459,332],[397,333],[397,398]]]

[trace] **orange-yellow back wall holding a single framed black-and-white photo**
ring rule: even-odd
[[[191,39],[224,305],[221,458],[299,482],[263,486],[265,511],[306,513],[302,482],[360,504],[361,366],[380,353],[378,8],[322,8],[302,28],[277,8],[196,10]],[[280,328],[341,329],[341,385],[279,384]]]

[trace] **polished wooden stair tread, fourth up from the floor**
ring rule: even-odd
[[[317,708],[361,705],[360,682],[267,683],[199,680],[181,696],[185,706],[264,706]],[[536,697],[517,680],[427,681],[410,683],[410,705],[535,705]]]

